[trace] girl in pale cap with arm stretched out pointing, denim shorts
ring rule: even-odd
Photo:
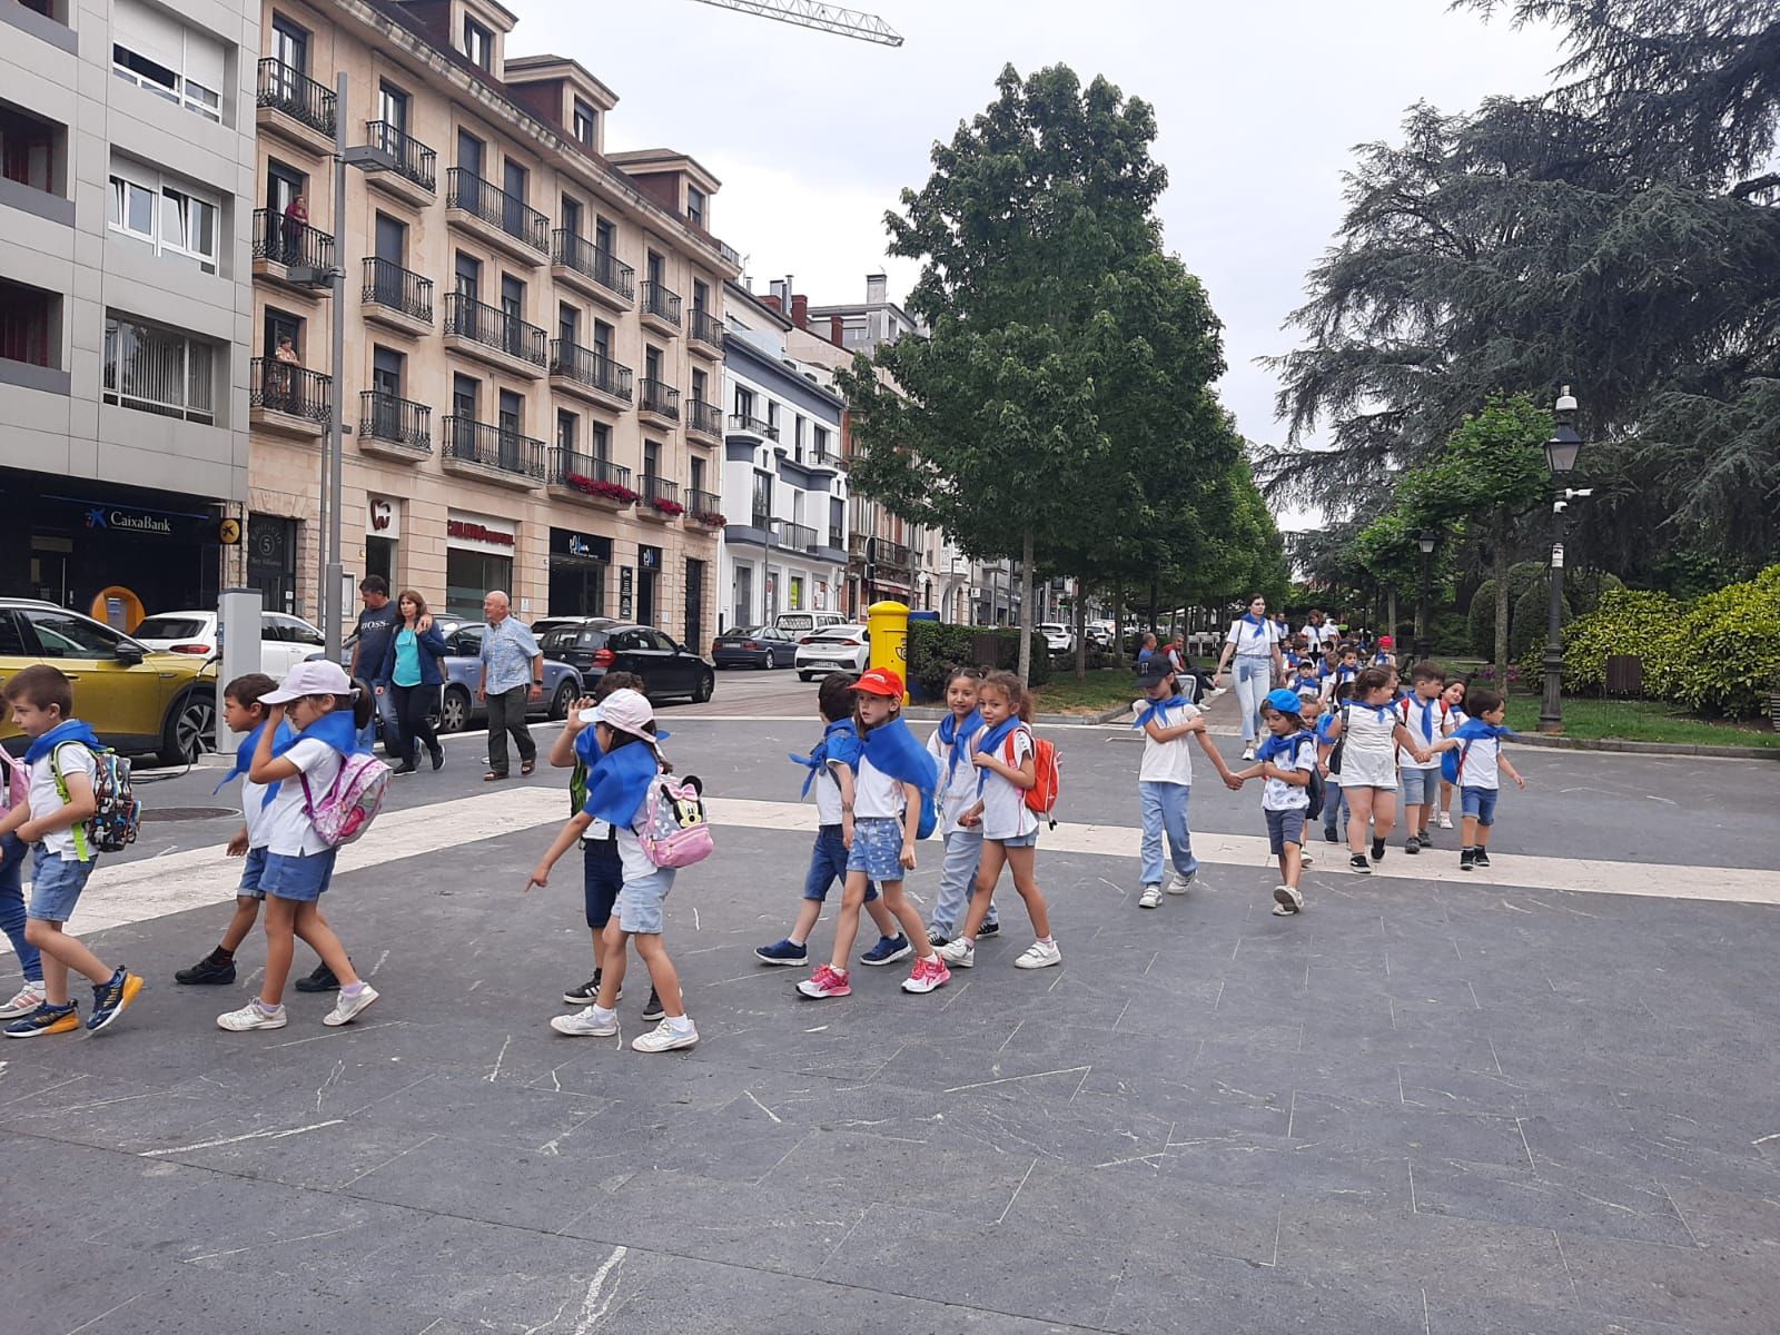
[[[660,999],[662,1022],[630,1041],[635,1052],[673,1052],[698,1043],[698,1029],[685,1013],[680,974],[662,942],[666,920],[662,904],[673,890],[675,872],[657,867],[643,851],[639,833],[650,819],[650,787],[660,774],[673,773],[660,753],[655,710],[641,691],[612,691],[593,710],[595,742],[600,755],[587,769],[587,805],[568,819],[550,851],[532,869],[525,888],[550,885],[550,869],[568,853],[595,821],[616,828],[614,844],[623,862],[625,883],[605,924],[605,952],[600,967],[600,991],[577,1015],[559,1015],[550,1027],[559,1034],[611,1038],[618,1032],[618,997],[625,990],[625,947],[637,942],[637,956],[650,972],[653,995]]]

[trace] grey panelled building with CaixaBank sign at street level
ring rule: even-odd
[[[0,4],[0,593],[240,575],[258,50],[258,0]]]

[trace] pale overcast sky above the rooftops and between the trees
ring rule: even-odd
[[[995,96],[995,77],[1068,64],[1155,107],[1162,235],[1225,322],[1218,390],[1244,436],[1276,443],[1285,317],[1333,239],[1353,146],[1396,139],[1404,109],[1465,110],[1549,85],[1558,39],[1445,0],[858,0],[886,48],[696,0],[506,0],[511,53],[580,61],[619,96],[607,150],[668,146],[721,182],[712,230],[756,292],[794,276],[810,304],[892,297],[885,210],[926,182],[929,150]],[[1282,527],[1303,516],[1282,514]]]

